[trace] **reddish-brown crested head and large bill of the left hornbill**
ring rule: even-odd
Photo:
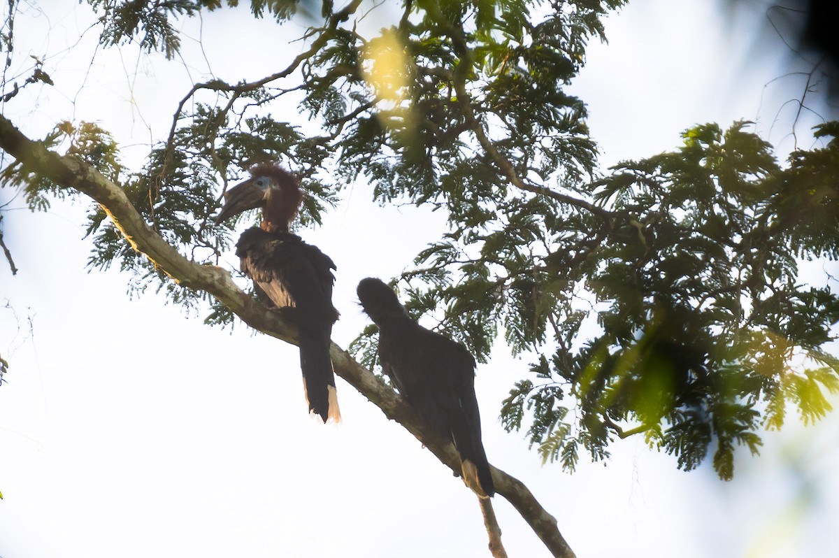
[[[258,164],[250,172],[248,180],[227,190],[216,222],[259,207],[263,211],[263,228],[288,231],[303,201],[297,178],[276,163]]]

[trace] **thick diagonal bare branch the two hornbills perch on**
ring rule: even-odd
[[[232,281],[226,270],[192,262],[178,253],[143,222],[143,218],[128,201],[122,189],[89,164],[45,149],[41,143],[24,136],[3,116],[0,116],[0,149],[20,160],[27,169],[49,178],[55,184],[79,190],[90,196],[107,212],[131,246],[147,256],[175,282],[190,289],[205,290],[248,326],[284,342],[297,344],[294,326],[280,319],[277,312],[266,309],[246,295]],[[456,474],[460,474],[460,459],[455,447],[450,441],[440,441],[431,435],[413,409],[395,394],[393,389],[334,343],[331,347],[331,357],[335,372],[341,378],[382,409],[388,419],[396,420],[422,441],[440,462]],[[563,558],[574,556],[557,529],[556,519],[542,508],[522,482],[495,467],[492,467],[492,482],[496,492],[513,504],[553,555]]]

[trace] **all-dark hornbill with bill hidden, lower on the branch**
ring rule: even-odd
[[[475,359],[460,343],[411,320],[393,289],[381,280],[362,279],[357,293],[378,326],[384,373],[420,419],[454,441],[466,485],[483,498],[492,496],[495,487],[475,397]]]

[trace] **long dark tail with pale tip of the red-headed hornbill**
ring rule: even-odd
[[[300,330],[300,369],[309,412],[324,422],[341,422],[341,409],[335,389],[335,372],[329,357],[331,331]]]

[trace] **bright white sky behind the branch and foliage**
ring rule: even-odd
[[[230,81],[263,76],[300,34],[240,9],[206,14],[204,52],[186,39],[184,61],[133,49],[93,58],[94,31],[76,43],[91,24],[86,5],[20,9],[17,63],[45,59],[55,87],[24,90],[6,115],[35,137],[65,118],[102,123],[137,145],[128,161],[168,133],[191,82],[209,70]],[[739,118],[791,148],[789,120],[771,126],[798,94],[783,90],[794,78],[763,87],[785,71],[774,63],[783,45],[732,37],[763,18],[751,9],[721,23],[705,0],[634,0],[609,19],[610,43],[591,45],[574,87],[604,162],[672,149],[693,123]],[[197,38],[195,23],[186,29]],[[301,232],[337,263],[333,339],[342,347],[366,323],[358,280],[398,274],[441,226],[427,211],[368,200],[366,185],[355,185],[323,227]],[[154,293],[128,300],[129,278],[115,270],[87,274],[83,209],[56,202],[47,214],[4,213],[20,272],[0,263],[0,304],[13,307],[0,308],[0,354],[11,366],[0,389],[0,556],[488,555],[472,493],[350,386],[339,380],[343,425],[307,417],[295,347],[241,324],[232,335],[203,326],[203,316]],[[360,248],[368,243],[388,258]],[[581,463],[568,475],[541,467],[496,420],[526,370],[504,347],[478,369],[487,455],[555,514],[581,558],[822,556],[835,547],[836,415],[768,433],[760,458],[738,454],[729,483],[710,467],[679,472],[640,440],[615,444],[607,467]],[[503,498],[494,503],[511,557],[548,555]]]

